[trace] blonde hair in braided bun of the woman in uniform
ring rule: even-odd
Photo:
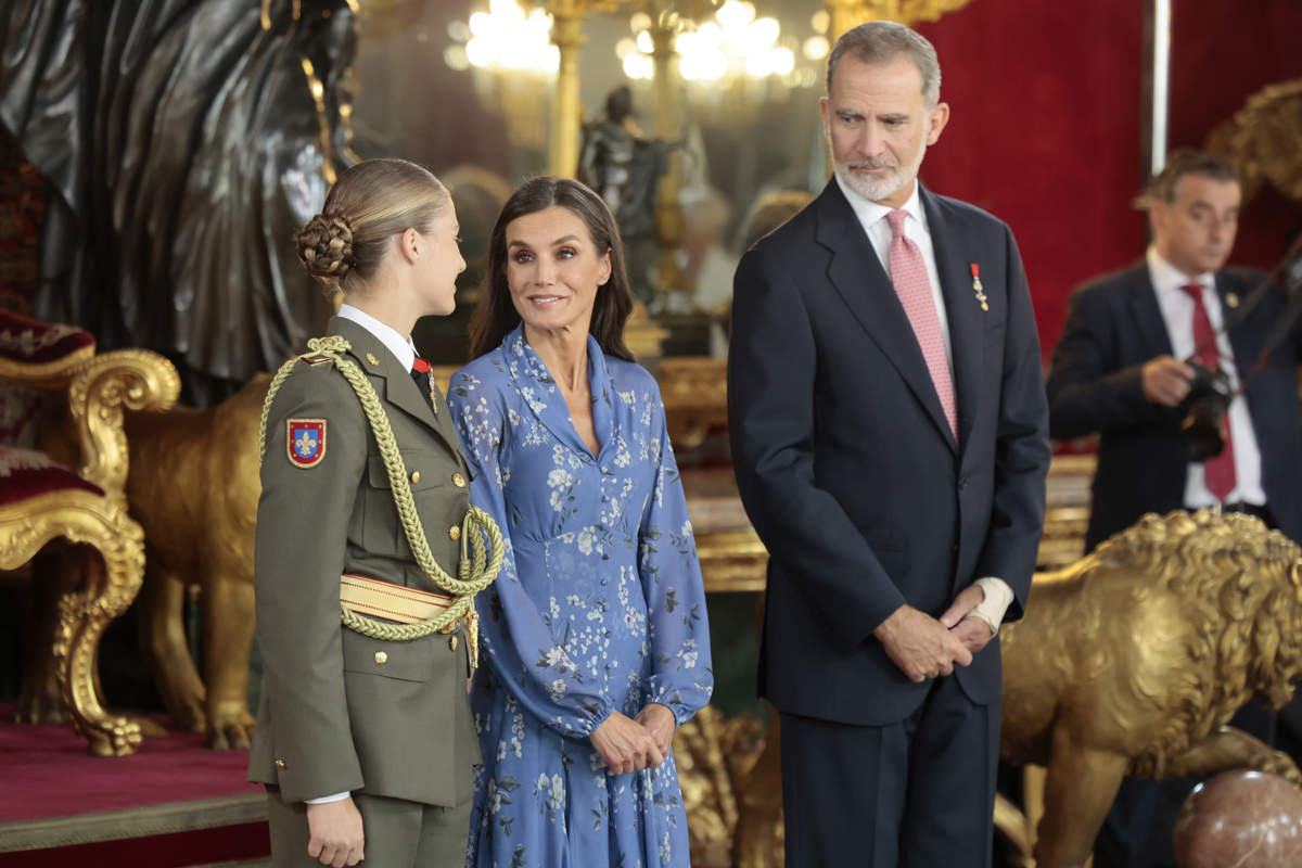
[[[340,173],[322,212],[294,237],[298,262],[331,289],[350,292],[375,276],[389,238],[430,232],[450,203],[443,182],[415,163],[362,160]]]

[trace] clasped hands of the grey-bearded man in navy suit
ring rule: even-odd
[[[887,656],[910,681],[948,675],[954,666],[971,665],[973,655],[993,635],[990,625],[970,614],[986,599],[978,584],[962,590],[940,618],[902,605],[883,621],[874,635]]]

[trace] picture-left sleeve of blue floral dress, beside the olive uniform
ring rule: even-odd
[[[612,703],[605,679],[581,668],[556,643],[519,582],[504,491],[510,468],[501,463],[505,411],[497,396],[466,375],[453,380],[448,407],[473,475],[471,502],[493,517],[506,547],[501,574],[477,600],[487,662],[543,724],[562,735],[586,738],[609,716]]]

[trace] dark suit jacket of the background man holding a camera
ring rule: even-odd
[[[1229,293],[1245,299],[1259,272],[1223,271],[1216,293],[1223,314]],[[1284,307],[1271,295],[1230,332],[1234,367],[1246,377],[1262,354],[1266,333]],[[1298,428],[1298,331],[1271,354],[1247,387],[1262,485],[1267,505],[1289,537],[1302,541],[1302,432]],[[1181,409],[1150,403],[1141,368],[1170,354],[1157,295],[1141,260],[1072,294],[1062,338],[1053,350],[1047,389],[1053,437],[1098,432],[1099,467],[1086,544],[1094,548],[1144,513],[1182,508],[1187,463],[1180,444]]]

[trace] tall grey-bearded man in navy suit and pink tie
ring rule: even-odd
[[[841,36],[836,176],[734,281],[729,431],[771,556],[759,681],[789,868],[991,858],[995,634],[1030,588],[1048,420],[1012,233],[917,182],[939,92],[913,30]]]

